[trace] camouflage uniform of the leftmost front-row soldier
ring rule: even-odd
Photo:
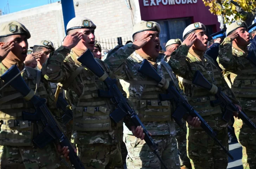
[[[7,58],[0,63],[0,76],[11,67],[6,60]],[[26,70],[21,73],[21,76],[28,84],[28,87],[36,91],[37,79],[40,78],[37,76],[37,70],[26,66],[23,68],[26,68]],[[52,109],[54,107],[54,100],[51,88],[43,79],[38,81],[38,84],[36,95],[45,98],[47,100],[47,106]],[[1,81],[0,87],[3,85],[4,83]],[[32,139],[38,136],[38,134],[43,131],[43,128],[39,127],[37,123],[23,121],[22,119],[22,111],[30,113],[35,112],[33,104],[25,101],[23,97],[10,86],[6,86],[2,89],[0,94],[0,168],[58,168],[60,162],[54,144],[50,143],[43,149],[39,149],[32,142]],[[7,99],[11,95],[12,99]],[[23,127],[22,125],[25,126]]]

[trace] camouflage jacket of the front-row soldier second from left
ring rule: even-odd
[[[43,65],[42,72],[45,79],[53,83],[64,84],[71,74],[75,72],[75,65],[81,66],[81,63],[77,61],[79,56],[72,50],[61,46],[54,53],[51,53],[47,62]],[[107,73],[111,76],[111,71],[108,69],[107,65],[103,61],[97,60],[103,65],[103,69],[107,70]],[[97,83],[97,86],[93,83],[96,81],[96,76],[88,69],[83,68],[82,72],[88,74],[86,76],[87,80],[82,80],[81,73],[78,74],[70,84],[69,88],[66,89],[66,95],[69,99],[69,104],[72,107],[79,107],[78,105],[83,104],[84,107],[89,109],[89,104],[91,106],[104,106],[107,104],[104,98],[98,97],[97,89],[106,90],[107,87],[103,82]],[[92,80],[94,79],[94,81]],[[98,79],[97,79],[98,80]],[[91,83],[91,87],[87,83]],[[99,84],[99,85],[98,85]],[[90,92],[90,97],[83,96],[84,93]],[[82,99],[81,99],[82,98]],[[81,101],[80,101],[81,99]],[[92,102],[93,100],[97,100]],[[110,106],[113,107],[111,104]],[[94,108],[93,108],[94,109]],[[75,113],[75,114],[74,114]],[[121,127],[112,126],[111,130],[104,131],[77,131],[74,130],[76,125],[75,122],[76,111],[73,110],[73,133],[71,141],[76,144],[93,144],[93,143],[105,143],[105,144],[115,144],[122,139]],[[83,115],[82,115],[83,116]],[[109,117],[110,118],[110,117]],[[82,117],[80,118],[82,119]],[[83,119],[82,119],[83,120]],[[86,121],[86,120],[85,120]],[[113,122],[114,123],[114,122]],[[83,125],[84,126],[84,125]],[[90,127],[90,125],[88,125]],[[85,127],[86,128],[86,127]]]

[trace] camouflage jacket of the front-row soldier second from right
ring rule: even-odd
[[[216,130],[227,127],[227,123],[222,120],[221,106],[212,107],[210,101],[217,98],[205,89],[192,85],[192,79],[196,70],[199,70],[204,77],[217,87],[222,87],[223,92],[232,97],[232,92],[222,78],[222,74],[217,69],[215,62],[210,56],[204,54],[204,62],[199,60],[188,52],[186,45],[181,45],[171,54],[168,63],[172,66],[173,72],[179,76],[179,85],[188,98],[188,102],[198,113],[203,116],[204,120]],[[190,81],[189,83],[187,81]],[[193,128],[192,126],[188,126]],[[201,129],[201,128],[198,128]]]

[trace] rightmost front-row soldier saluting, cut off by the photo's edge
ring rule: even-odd
[[[227,28],[228,37],[219,46],[218,62],[226,72],[225,79],[240,101],[247,116],[256,123],[256,67],[245,57],[248,55],[249,33],[244,21],[238,20],[231,23]],[[235,118],[233,125],[238,142],[243,147],[243,168],[256,167],[255,131],[251,130],[242,120]]]

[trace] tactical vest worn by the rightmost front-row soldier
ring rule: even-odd
[[[256,98],[256,68],[245,58],[244,54],[237,54],[237,56],[238,64],[244,69],[233,73],[226,72],[225,80],[236,97]]]

